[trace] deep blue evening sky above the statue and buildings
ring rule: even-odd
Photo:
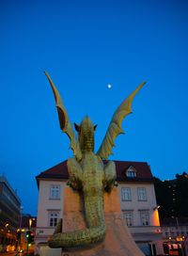
[[[98,124],[96,151],[146,80],[110,158],[146,161],[162,180],[188,171],[187,1],[1,0],[0,35],[0,173],[25,213],[37,213],[36,175],[72,156],[43,71],[72,122]]]

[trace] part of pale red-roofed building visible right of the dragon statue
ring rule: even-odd
[[[134,241],[146,255],[161,254],[162,232],[149,165],[116,161],[116,167],[121,210]]]

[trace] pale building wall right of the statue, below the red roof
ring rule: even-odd
[[[146,198],[139,200],[138,188],[144,188]],[[130,198],[123,199],[122,189],[129,189]],[[128,225],[137,245],[149,255],[149,247],[155,245],[157,253],[163,254],[162,232],[159,221],[158,208],[156,204],[154,185],[151,183],[119,183],[119,200],[125,223]],[[126,213],[133,216],[133,222],[127,223]],[[149,221],[143,225],[141,215],[147,213]],[[132,224],[132,225],[130,225]]]

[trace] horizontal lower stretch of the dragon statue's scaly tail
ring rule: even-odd
[[[76,248],[101,242],[105,237],[105,225],[75,232],[56,232],[48,240],[50,248]]]

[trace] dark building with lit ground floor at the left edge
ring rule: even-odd
[[[16,248],[21,220],[21,200],[8,180],[0,176],[0,252]]]

